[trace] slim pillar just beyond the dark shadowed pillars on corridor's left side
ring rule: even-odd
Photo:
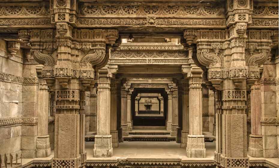
[[[126,84],[123,84],[121,88],[121,127],[122,127],[122,136],[127,137],[128,124],[127,124],[127,91]]]

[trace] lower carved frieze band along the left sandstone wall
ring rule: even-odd
[[[0,119],[0,128],[12,127],[17,125],[37,125],[38,117],[15,117]]]

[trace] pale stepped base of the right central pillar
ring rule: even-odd
[[[188,158],[205,158],[204,135],[188,135],[186,155]]]

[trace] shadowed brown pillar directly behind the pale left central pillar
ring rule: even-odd
[[[110,134],[112,135],[113,148],[119,146],[117,131],[117,80],[110,81]]]

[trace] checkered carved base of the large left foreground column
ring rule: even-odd
[[[51,168],[79,168],[81,166],[80,156],[72,159],[53,158]]]

